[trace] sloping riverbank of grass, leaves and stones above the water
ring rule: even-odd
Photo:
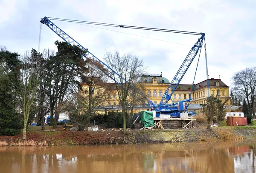
[[[160,142],[194,142],[216,140],[239,140],[256,138],[256,128],[192,128],[173,130],[131,130],[127,135],[121,131],[28,131],[27,140],[22,134],[0,136],[0,146],[53,146],[53,145],[102,145]]]

